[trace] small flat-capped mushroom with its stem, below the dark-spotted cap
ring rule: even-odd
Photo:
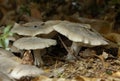
[[[39,52],[34,54],[34,57],[35,57],[35,65],[40,66],[43,64],[43,61],[41,59],[42,50],[37,50],[37,49],[43,49],[46,47],[50,47],[52,45],[56,45],[56,41],[47,38],[23,37],[15,41],[13,45],[19,49],[34,50],[34,52],[36,51]]]

